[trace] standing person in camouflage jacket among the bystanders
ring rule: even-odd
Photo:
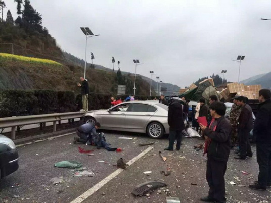
[[[238,125],[238,118],[241,112],[241,107],[237,105],[237,98],[239,96],[236,95],[234,97],[234,104],[232,105],[232,109],[229,115],[229,121],[232,125],[232,133],[231,133],[231,147],[234,147],[237,142],[237,125]]]

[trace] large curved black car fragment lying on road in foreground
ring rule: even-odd
[[[143,196],[148,193],[153,192],[155,189],[159,187],[167,186],[166,183],[160,181],[149,181],[136,186],[136,189],[132,191],[132,193],[136,196]]]

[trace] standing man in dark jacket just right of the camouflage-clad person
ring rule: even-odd
[[[253,156],[249,143],[249,133],[253,128],[253,113],[251,107],[246,104],[247,97],[239,96],[236,100],[237,105],[241,107],[241,112],[238,118],[238,143],[240,155],[235,157],[235,159],[246,159],[246,156]]]

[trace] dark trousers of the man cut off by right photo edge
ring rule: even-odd
[[[258,182],[266,187],[271,184],[271,144],[256,143],[257,162],[259,165]]]

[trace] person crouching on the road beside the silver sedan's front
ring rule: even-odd
[[[92,141],[92,135],[91,134],[98,134],[96,132],[96,130],[98,130],[101,127],[100,123],[85,123],[81,126],[79,126],[76,130],[76,133],[78,135],[78,137],[74,137],[73,139],[73,143],[77,144],[77,143],[88,143],[89,145],[91,144]]]

